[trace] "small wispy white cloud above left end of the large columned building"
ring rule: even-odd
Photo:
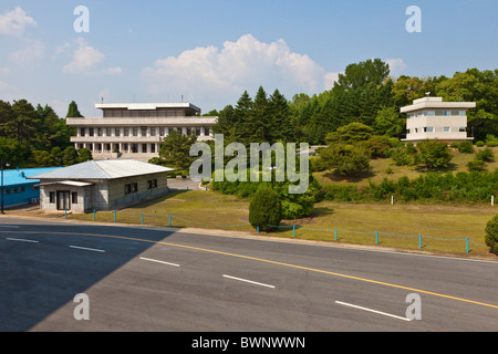
[[[83,73],[83,74],[104,74],[115,75],[121,74],[121,67],[98,69],[98,64],[105,59],[105,55],[96,48],[90,45],[84,39],[80,38],[75,41],[77,45],[72,53],[72,61],[62,67],[64,73]],[[64,43],[55,49],[55,54],[59,55],[70,49],[71,45]]]

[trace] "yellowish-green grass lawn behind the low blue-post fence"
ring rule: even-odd
[[[247,231],[249,201],[215,191],[184,191],[117,211],[116,221],[176,228],[203,228]],[[485,246],[485,227],[496,214],[491,206],[457,205],[385,205],[338,204],[315,205],[309,218],[282,221],[271,233],[260,236],[320,240],[405,249],[438,254],[491,257]],[[62,217],[62,216],[61,216]],[[71,219],[93,220],[93,214],[73,215]],[[113,222],[114,212],[97,212],[96,221]],[[338,229],[338,241],[335,241]],[[376,233],[378,231],[378,244]],[[418,235],[423,235],[419,249]],[[396,235],[396,236],[393,236]],[[466,239],[469,238],[467,254]]]

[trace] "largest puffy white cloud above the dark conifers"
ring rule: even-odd
[[[336,76],[310,56],[292,52],[281,39],[263,43],[251,34],[227,41],[222,49],[200,46],[157,60],[142,74],[151,93],[185,94],[196,102],[222,97],[227,104],[245,90],[256,93],[259,85],[268,93],[319,93]]]

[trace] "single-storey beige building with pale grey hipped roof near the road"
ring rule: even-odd
[[[29,177],[45,212],[110,211],[167,195],[168,167],[134,159],[91,160]]]

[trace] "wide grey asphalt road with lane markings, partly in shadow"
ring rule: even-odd
[[[498,262],[0,218],[2,332],[496,332],[497,279]]]

